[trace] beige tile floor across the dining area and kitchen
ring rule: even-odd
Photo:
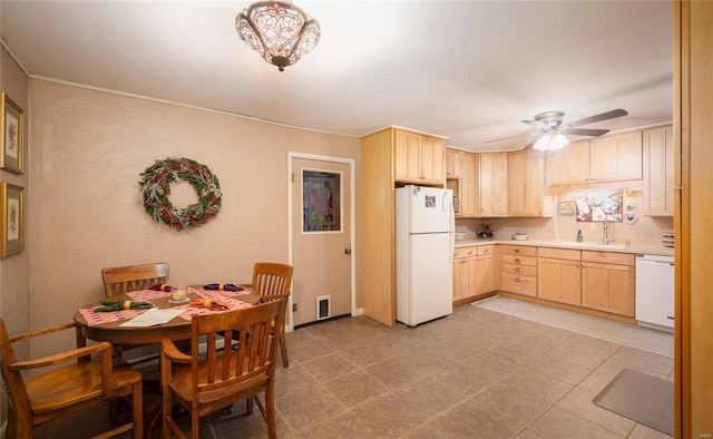
[[[497,297],[414,329],[356,316],[293,331],[279,437],[667,438],[592,399],[624,368],[672,380],[672,336],[570,314]],[[206,417],[202,437],[266,437],[243,406]],[[106,418],[101,408],[36,437],[86,437]]]

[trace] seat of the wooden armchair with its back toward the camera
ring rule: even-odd
[[[222,363],[223,355],[216,357],[216,363]],[[231,368],[235,368],[235,363],[237,361],[237,352],[233,352],[231,354]],[[247,372],[247,362],[244,363],[243,373]],[[213,382],[214,384],[209,388],[203,388],[203,390],[198,393],[198,404],[199,406],[211,406],[214,402],[225,401],[226,399],[233,399],[234,401],[240,401],[246,399],[253,394],[260,393],[267,389],[268,378],[265,377],[265,370],[267,368],[263,367],[256,369],[253,373],[246,373],[238,378],[240,384],[235,383],[235,378],[233,378],[233,383],[231,387],[225,388],[222,387],[221,379],[221,368],[215,368],[213,373]],[[198,368],[198,383],[206,384],[208,382],[208,368],[206,363],[202,363]],[[241,382],[242,381],[242,382]],[[191,365],[176,365],[172,367],[172,382],[169,383],[170,389],[174,392],[174,397],[180,400],[184,404],[191,404],[192,399],[192,371]],[[224,402],[223,402],[224,406]],[[202,410],[202,413],[208,413],[209,410]]]

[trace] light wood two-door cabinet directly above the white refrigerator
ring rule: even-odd
[[[394,178],[401,183],[446,185],[446,140],[394,130]]]

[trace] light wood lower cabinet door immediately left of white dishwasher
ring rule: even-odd
[[[582,305],[634,316],[634,267],[629,265],[582,264]]]

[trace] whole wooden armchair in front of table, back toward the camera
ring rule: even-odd
[[[172,340],[162,341],[164,439],[172,432],[185,438],[172,414],[174,399],[191,413],[192,438],[198,438],[201,417],[244,399],[247,399],[248,413],[252,413],[252,399],[255,400],[267,422],[268,437],[276,438],[274,380],[280,328],[284,323],[283,302],[194,315],[191,355],[180,352]],[[232,340],[235,331],[237,343],[223,343]],[[204,355],[198,353],[202,336],[207,344]],[[258,398],[263,392],[264,406]]]

